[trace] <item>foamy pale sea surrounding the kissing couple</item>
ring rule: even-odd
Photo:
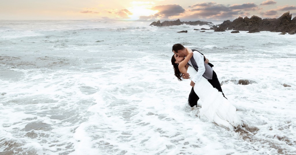
[[[296,154],[296,35],[150,23],[0,20],[0,154]],[[244,130],[188,106],[176,43],[214,65]]]

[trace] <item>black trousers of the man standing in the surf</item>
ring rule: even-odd
[[[209,83],[214,88],[218,89],[219,92],[222,92],[222,88],[221,88],[220,82],[219,82],[218,77],[217,77],[217,74],[214,72],[214,70],[213,70],[213,78],[212,79],[209,79],[208,81],[209,81]],[[225,95],[224,95],[223,92],[222,92],[222,94],[225,97]],[[200,99],[200,98],[196,95],[196,93],[194,92],[193,87],[192,87],[191,92],[190,92],[189,97],[188,97],[188,103],[189,103],[189,105],[191,107],[193,107],[194,105],[197,105],[198,99]]]

